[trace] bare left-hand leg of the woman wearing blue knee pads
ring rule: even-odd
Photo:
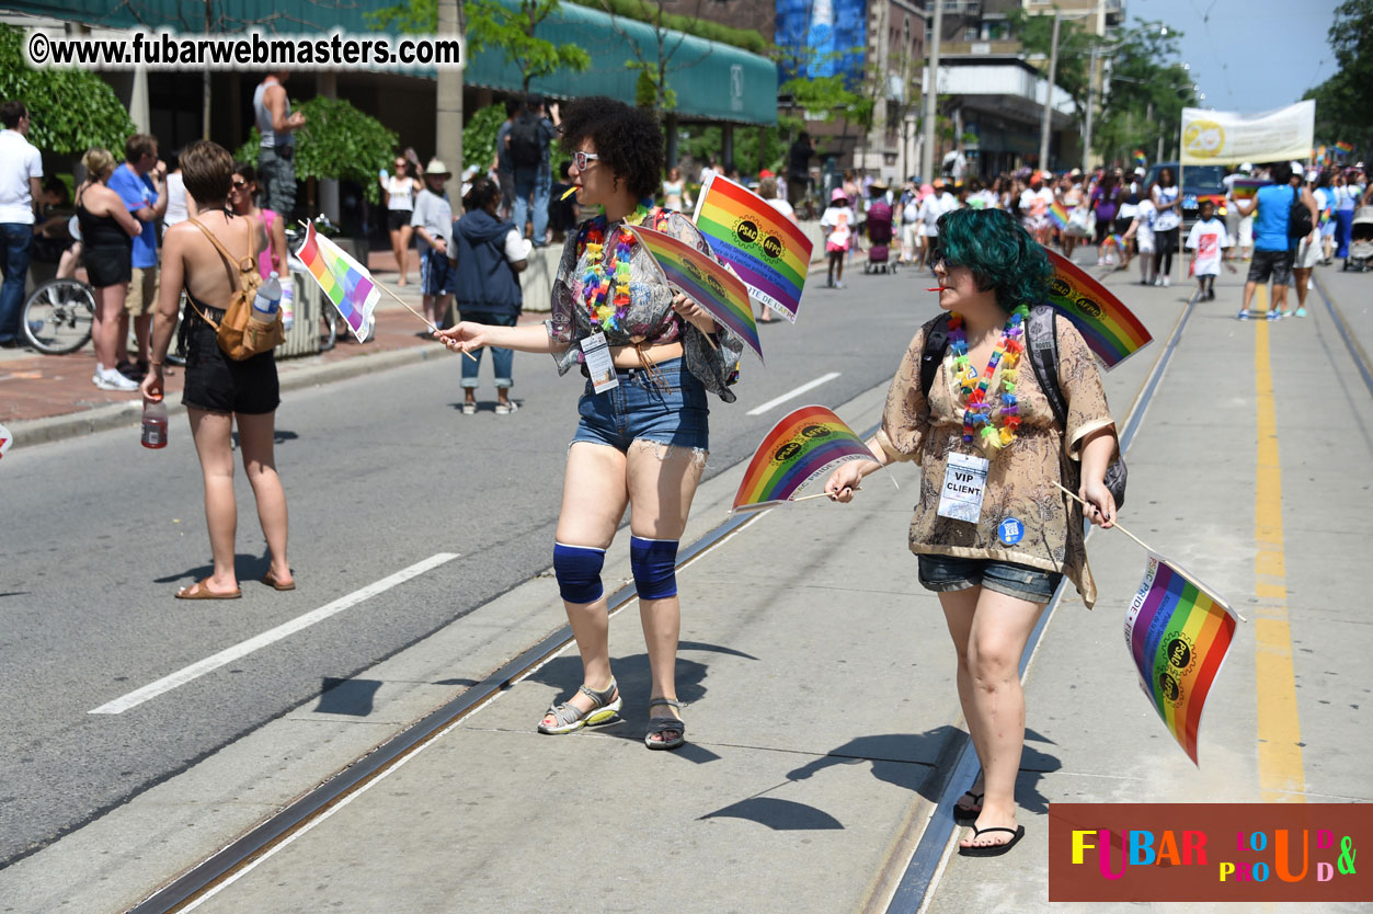
[[[627,462],[625,454],[608,445],[577,442],[567,450],[563,508],[555,534],[557,542],[588,549],[610,546],[610,541],[615,538],[615,527],[625,516],[625,505],[629,504]],[[593,602],[564,600],[563,608],[582,655],[582,683],[589,689],[604,689],[611,681],[605,596]],[[588,711],[592,700],[578,692],[570,699],[570,704]],[[556,723],[552,715],[545,716],[544,722]]]

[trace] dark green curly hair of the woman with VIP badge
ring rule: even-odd
[[[1049,257],[1009,213],[950,210],[939,217],[938,244],[950,266],[972,270],[978,288],[994,288],[1008,314],[1049,298]]]

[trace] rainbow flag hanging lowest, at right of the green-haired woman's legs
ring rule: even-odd
[[[1229,605],[1156,552],[1124,619],[1124,640],[1140,688],[1173,738],[1197,762],[1205,697],[1234,638]]]

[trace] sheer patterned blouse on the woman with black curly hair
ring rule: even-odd
[[[710,246],[691,220],[681,213],[660,213],[656,218],[651,213],[644,220],[645,226],[655,228],[656,222],[658,231],[710,254]],[[557,276],[553,279],[552,317],[545,325],[555,343],[567,346],[566,350],[553,353],[559,375],[566,375],[573,366],[585,362],[579,343],[603,329],[599,324],[592,323],[584,298],[585,280],[593,266],[592,258],[586,254],[586,236],[595,222],[596,220],[584,222],[574,235],[568,236],[563,246],[563,258],[557,265]],[[607,228],[607,239],[615,237],[621,224],[616,221]],[[607,250],[612,243],[607,243]],[[641,244],[633,246],[629,262],[629,310],[622,327],[605,332],[605,342],[611,346],[632,346],[634,343],[659,346],[680,342],[686,369],[700,380],[706,390],[718,394],[726,403],[735,402],[735,392],[729,390],[729,386],[737,379],[739,360],[744,351],[743,340],[729,329],[718,327],[713,349],[700,329],[678,317],[673,310],[674,291],[663,281],[652,255]]]

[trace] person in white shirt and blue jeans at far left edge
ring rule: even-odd
[[[33,224],[43,196],[43,156],[29,143],[29,108],[0,104],[0,349],[19,346],[23,287],[33,253]]]

